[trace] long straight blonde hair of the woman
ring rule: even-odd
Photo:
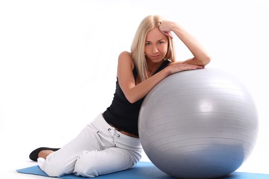
[[[145,17],[140,25],[137,28],[137,31],[134,36],[134,40],[131,46],[131,54],[135,64],[135,68],[137,70],[138,75],[141,80],[144,81],[148,78],[147,74],[147,61],[145,57],[145,41],[146,35],[148,32],[154,28],[159,28],[160,23],[163,20],[161,16],[158,15],[150,15]],[[170,37],[168,37],[168,51],[165,55],[165,59],[170,60],[171,62],[176,61],[176,54],[174,50],[174,41]]]

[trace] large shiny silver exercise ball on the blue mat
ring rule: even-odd
[[[144,99],[139,137],[152,163],[180,178],[215,178],[238,169],[258,134],[245,86],[218,69],[168,76]]]

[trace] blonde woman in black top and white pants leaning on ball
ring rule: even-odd
[[[173,36],[194,57],[176,61]],[[74,173],[94,177],[134,167],[141,159],[138,114],[144,97],[165,77],[204,68],[210,55],[177,23],[147,16],[135,34],[131,52],[118,57],[116,92],[110,107],[64,147],[37,148],[30,159],[49,176]]]

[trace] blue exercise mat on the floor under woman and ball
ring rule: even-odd
[[[16,170],[19,173],[26,174],[35,174],[48,176],[45,172],[40,170],[40,168],[36,165],[33,167],[23,168]],[[85,179],[86,177],[77,176],[74,174],[60,176],[58,178],[65,179]],[[119,171],[111,174],[100,175],[98,179],[119,179],[119,178],[128,178],[128,179],[175,179],[175,177],[169,176],[168,174],[163,173],[157,167],[155,167],[150,162],[139,162],[136,167]],[[269,179],[269,174],[258,174],[258,173],[243,173],[243,172],[233,172],[228,176],[221,177],[221,179]]]

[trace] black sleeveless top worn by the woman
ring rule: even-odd
[[[164,69],[169,62],[169,60],[163,61],[154,74]],[[133,74],[136,81],[137,71],[135,67]],[[122,92],[117,78],[114,98],[110,107],[108,107],[104,112],[104,119],[107,121],[107,123],[112,124],[115,128],[138,136],[138,115],[144,98],[145,97],[134,103],[130,103]]]

